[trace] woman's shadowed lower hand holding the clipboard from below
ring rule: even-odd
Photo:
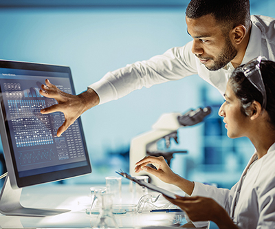
[[[208,197],[180,197],[178,195],[177,199],[164,197],[184,210],[191,221],[213,221],[219,228],[238,228],[230,219],[228,212],[214,199]]]

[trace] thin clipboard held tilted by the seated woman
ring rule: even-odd
[[[126,179],[130,179],[132,182],[135,182],[137,184],[139,184],[140,186],[144,186],[150,190],[153,190],[157,193],[162,193],[163,195],[166,195],[167,197],[170,197],[172,199],[177,199],[176,194],[175,193],[171,193],[170,191],[164,189],[164,188],[160,188],[158,186],[155,186],[153,184],[144,182],[142,180],[136,179],[135,177],[132,177],[131,175],[129,175],[128,173],[124,173],[123,171],[115,171],[115,173],[118,173],[119,175],[121,175],[122,177],[125,177]]]

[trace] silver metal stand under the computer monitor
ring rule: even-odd
[[[65,209],[42,209],[42,208],[24,208],[20,204],[22,188],[12,189],[10,177],[5,177],[5,183],[0,195],[0,212],[3,215],[17,215],[29,217],[49,217],[58,215],[70,210]]]

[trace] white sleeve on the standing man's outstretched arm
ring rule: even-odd
[[[192,42],[173,47],[148,61],[139,61],[108,72],[101,80],[90,85],[100,98],[100,104],[126,96],[131,91],[151,87],[169,80],[179,80],[197,74]]]

